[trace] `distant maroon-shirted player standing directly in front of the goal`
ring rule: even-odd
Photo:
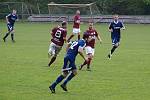
[[[78,34],[78,40],[79,40],[80,39],[80,11],[79,10],[76,11],[76,15],[74,16],[73,32],[67,41],[69,42],[76,34]]]

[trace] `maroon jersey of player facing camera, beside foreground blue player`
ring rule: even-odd
[[[88,29],[85,34],[86,37],[91,37],[92,40],[89,42],[86,42],[86,46],[90,46],[92,48],[95,47],[95,41],[96,41],[96,37],[98,36],[98,33],[95,29]]]

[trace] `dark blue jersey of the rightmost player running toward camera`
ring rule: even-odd
[[[120,22],[120,21],[113,21],[110,23],[109,25],[109,29],[112,29],[112,36],[117,36],[117,37],[120,37],[120,29],[123,28],[123,23]]]

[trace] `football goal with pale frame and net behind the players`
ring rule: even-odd
[[[100,15],[100,11],[96,6],[96,3],[89,4],[56,4],[51,2],[48,4],[49,16],[66,16],[67,20],[70,21],[76,10],[80,10],[81,20],[91,20],[95,22],[95,16]],[[56,20],[57,21],[57,20]]]

